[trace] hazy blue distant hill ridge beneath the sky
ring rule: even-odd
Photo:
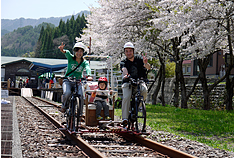
[[[84,10],[76,15],[74,15],[75,18],[77,18],[78,15],[84,15],[89,14],[89,11]],[[38,26],[39,24],[42,24],[43,22],[45,23],[51,23],[54,24],[55,26],[59,25],[59,21],[62,19],[63,21],[66,21],[67,19],[70,19],[72,15],[70,16],[65,16],[65,17],[50,17],[50,18],[40,18],[40,19],[25,19],[25,18],[20,18],[20,19],[1,19],[1,30],[2,30],[2,36],[7,33],[7,31],[12,32],[13,30],[24,27],[24,26]]]

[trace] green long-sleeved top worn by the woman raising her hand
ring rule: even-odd
[[[73,60],[72,57],[74,57],[73,54],[70,53],[69,50],[65,50],[66,53],[65,53],[65,56],[67,57],[67,60],[68,60],[68,64],[67,64],[67,72],[66,72],[66,75],[71,72],[73,69],[75,69],[79,64],[76,60]],[[68,75],[69,77],[73,76],[73,77],[76,77],[77,79],[80,79],[83,77],[83,71],[84,69],[86,69],[86,73],[88,76],[91,75],[91,69],[89,67],[89,63],[87,60],[84,60],[82,62],[82,64],[74,71],[72,72],[70,75]]]

